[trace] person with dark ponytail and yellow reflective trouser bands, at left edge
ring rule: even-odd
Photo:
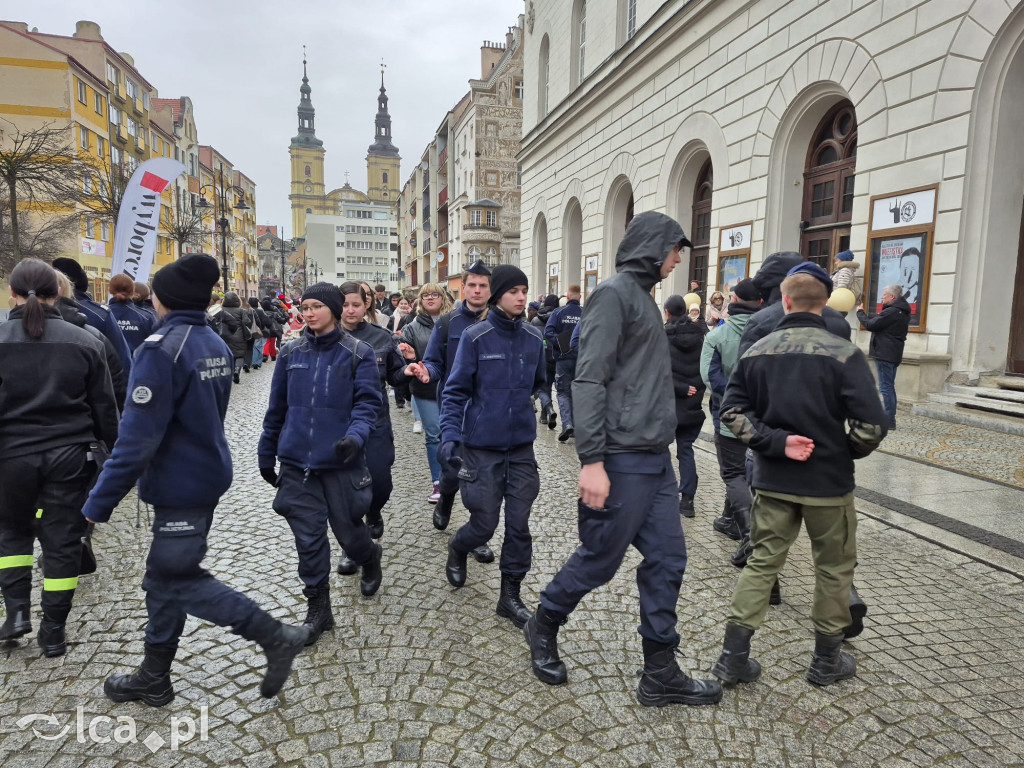
[[[67,650],[65,624],[82,564],[82,505],[118,408],[103,345],[60,316],[57,275],[38,259],[10,273],[16,306],[0,325],[0,641],[32,632],[34,540],[43,551],[45,656]],[[92,447],[95,445],[95,449]]]

